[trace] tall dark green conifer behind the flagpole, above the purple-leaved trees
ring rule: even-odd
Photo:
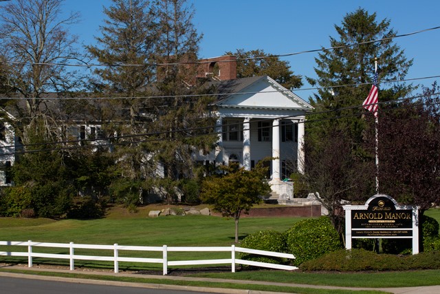
[[[371,88],[373,81],[375,60],[380,70],[380,101],[390,101],[404,96],[412,87],[388,85],[386,80],[403,79],[412,65],[407,60],[404,50],[401,50],[392,39],[396,35],[390,28],[390,21],[378,21],[376,14],[369,14],[359,8],[348,13],[341,25],[335,25],[338,38],[330,37],[330,46],[333,50],[325,50],[316,58],[315,72],[318,78],[307,78],[311,85],[322,87],[318,90],[311,104],[315,112],[311,120],[320,118],[338,117],[338,120],[327,120],[313,124],[309,134],[322,135],[326,129],[338,127],[348,128],[353,143],[362,142],[364,120],[356,114],[364,112],[360,108],[345,109],[362,105]],[[384,39],[382,41],[375,41]],[[322,112],[325,112],[322,114]]]

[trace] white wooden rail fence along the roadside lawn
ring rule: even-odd
[[[168,273],[168,266],[183,266],[183,265],[202,265],[202,264],[231,264],[232,273],[235,273],[236,264],[246,264],[250,266],[261,266],[270,269],[283,269],[293,271],[298,269],[296,266],[286,266],[281,264],[270,264],[266,262],[252,262],[250,260],[241,260],[235,257],[236,252],[251,253],[256,255],[266,255],[277,258],[294,259],[294,255],[288,253],[277,253],[271,251],[254,250],[232,246],[219,247],[172,247],[172,246],[122,246],[118,244],[113,245],[93,245],[93,244],[74,244],[66,243],[47,243],[47,242],[12,242],[0,241],[0,246],[27,246],[28,252],[8,252],[0,251],[0,256],[25,256],[28,257],[28,266],[32,267],[32,258],[59,258],[70,261],[70,270],[74,270],[75,260],[95,260],[95,261],[109,261],[114,263],[114,271],[118,273],[119,262],[143,262],[143,263],[159,263],[163,264],[163,274]],[[54,253],[37,253],[34,252],[35,247],[52,247],[69,249],[69,254],[54,254]],[[98,255],[76,255],[74,249],[99,249],[113,251],[113,256],[98,256]],[[120,257],[120,251],[162,251],[162,258],[125,258]],[[168,260],[168,252],[230,252],[231,258],[219,260]]]

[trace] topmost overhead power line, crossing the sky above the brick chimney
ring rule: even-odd
[[[254,60],[254,59],[269,59],[272,57],[286,57],[286,56],[294,56],[299,54],[306,54],[306,53],[314,53],[314,52],[325,52],[329,50],[336,50],[341,48],[349,48],[354,46],[360,46],[365,45],[369,43],[377,43],[382,41],[388,41],[396,38],[401,38],[404,36],[412,36],[414,34],[420,34],[422,32],[429,32],[431,30],[438,30],[440,26],[433,27],[433,28],[427,28],[424,30],[418,30],[415,32],[410,32],[407,34],[399,34],[396,36],[388,36],[382,39],[376,39],[371,41],[364,41],[360,43],[351,43],[347,45],[341,45],[336,47],[329,47],[329,48],[320,48],[320,49],[314,49],[314,50],[305,50],[300,52],[292,52],[292,53],[286,53],[286,54],[274,54],[274,55],[266,55],[266,56],[256,56],[256,57],[249,57],[249,58],[237,58],[236,61],[248,61],[248,60]],[[142,63],[142,64],[96,64],[96,63],[85,63],[85,64],[72,64],[72,63],[32,63],[32,62],[24,62],[24,61],[4,61],[5,63],[10,64],[21,64],[21,65],[57,65],[57,66],[71,66],[71,67],[144,67],[144,66],[166,66],[166,65],[191,65],[191,64],[204,64],[204,63],[212,63],[212,61],[188,61],[188,62],[177,62],[177,63]],[[230,60],[226,61],[216,61],[216,62],[233,62]]]

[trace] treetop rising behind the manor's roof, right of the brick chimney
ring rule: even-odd
[[[247,78],[250,76],[270,76],[287,89],[299,88],[303,85],[302,77],[290,70],[288,61],[281,61],[278,56],[266,54],[263,50],[237,49],[236,52],[225,54],[237,57],[236,76]]]

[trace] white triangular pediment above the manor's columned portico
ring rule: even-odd
[[[221,98],[216,104],[219,107],[259,108],[259,109],[312,109],[302,98],[276,83],[269,76],[255,79],[249,85],[236,88]]]

